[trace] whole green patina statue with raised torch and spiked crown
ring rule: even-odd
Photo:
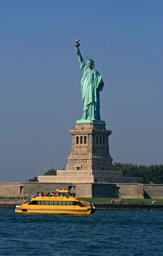
[[[94,69],[94,60],[86,58],[83,61],[82,55],[79,49],[79,41],[76,40],[74,46],[76,47],[76,54],[78,55],[80,62],[80,70],[82,71],[81,79],[81,93],[82,102],[84,106],[83,117],[78,120],[77,123],[81,122],[97,122],[105,123],[100,119],[100,95],[99,92],[103,90],[103,80],[102,76],[99,75],[98,71]],[[86,64],[87,66],[86,66]]]

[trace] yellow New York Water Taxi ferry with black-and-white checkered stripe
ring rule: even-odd
[[[15,208],[15,213],[90,214],[94,212],[93,204],[73,197],[68,190],[57,190],[52,195],[40,194],[31,198],[31,202],[17,205]]]

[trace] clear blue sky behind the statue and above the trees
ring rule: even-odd
[[[0,182],[63,169],[83,114],[80,51],[103,76],[113,161],[163,163],[163,1],[0,1]]]

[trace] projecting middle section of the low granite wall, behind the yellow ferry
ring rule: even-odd
[[[69,189],[76,197],[88,198],[143,198],[143,184],[120,183],[24,183],[24,196],[36,192],[53,192]]]

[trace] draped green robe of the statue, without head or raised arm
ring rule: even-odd
[[[83,117],[81,120],[100,120],[100,95],[103,90],[103,81],[97,70],[89,70],[82,62],[80,66],[83,77],[81,79],[82,102],[84,106]]]

